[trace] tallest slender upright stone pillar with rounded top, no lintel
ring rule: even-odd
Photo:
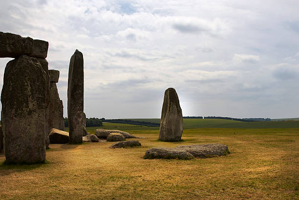
[[[67,88],[67,116],[69,141],[81,143],[84,133],[83,102],[84,69],[83,54],[76,50],[69,62]]]

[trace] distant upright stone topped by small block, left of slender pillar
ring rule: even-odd
[[[64,105],[59,98],[56,83],[59,80],[58,70],[49,70],[50,75],[50,104],[49,104],[49,119],[48,130],[55,128],[64,131]]]

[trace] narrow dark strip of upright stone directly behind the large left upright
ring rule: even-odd
[[[48,124],[48,120],[49,120],[49,104],[50,104],[50,76],[48,73],[48,61],[45,59],[40,59],[38,58],[37,60],[39,60],[40,64],[43,67],[44,72],[46,73],[46,78],[47,78],[47,90],[46,90],[46,98],[48,100],[48,106],[47,109],[45,111],[45,120],[44,120],[44,133],[45,133],[45,145],[46,145],[46,149],[49,148],[49,124]]]

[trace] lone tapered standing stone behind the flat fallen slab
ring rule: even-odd
[[[183,115],[180,102],[174,88],[168,88],[164,94],[160,120],[159,140],[179,141],[183,134]]]

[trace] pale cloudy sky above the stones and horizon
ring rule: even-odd
[[[87,118],[160,118],[169,87],[184,116],[299,117],[298,0],[0,1],[0,31],[49,42],[65,117],[76,49]]]

